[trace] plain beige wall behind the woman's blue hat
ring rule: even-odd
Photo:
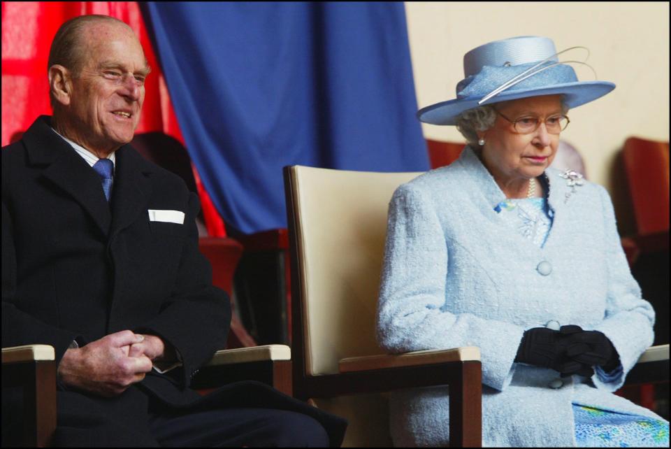
[[[615,157],[628,136],[669,140],[669,3],[406,2],[405,10],[419,108],[456,97],[468,50],[512,36],[548,36],[558,51],[589,48],[599,79],[617,86],[570,111],[562,134],[582,152],[590,180],[618,188]],[[589,69],[576,71],[593,79]],[[422,126],[426,138],[463,141],[454,127]]]

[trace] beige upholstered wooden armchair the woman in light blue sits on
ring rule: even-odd
[[[343,446],[391,446],[386,392],[438,384],[451,446],[481,445],[479,348],[387,355],[375,341],[389,200],[419,174],[284,169],[294,397],[347,418]],[[628,381],[668,379],[668,360],[669,345],[650,348]]]

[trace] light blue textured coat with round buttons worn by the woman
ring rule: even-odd
[[[389,205],[378,341],[389,352],[478,346],[484,446],[576,446],[572,403],[659,419],[612,394],[624,376],[551,388],[558,372],[513,362],[532,327],[603,332],[624,374],[653,341],[654,311],[631,276],[607,192],[569,187],[560,173],[546,171],[553,224],[543,248],[493,211],[505,195],[468,147],[398,187]],[[444,446],[448,412],[447,387],[392,394],[394,443]]]

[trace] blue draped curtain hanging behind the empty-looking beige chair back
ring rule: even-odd
[[[287,227],[286,165],[428,169],[403,3],[150,2],[143,12],[227,226]]]

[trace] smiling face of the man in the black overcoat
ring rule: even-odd
[[[80,38],[82,69],[71,79],[68,137],[94,152],[114,151],[138,127],[149,68],[135,34],[122,24],[91,24]]]

